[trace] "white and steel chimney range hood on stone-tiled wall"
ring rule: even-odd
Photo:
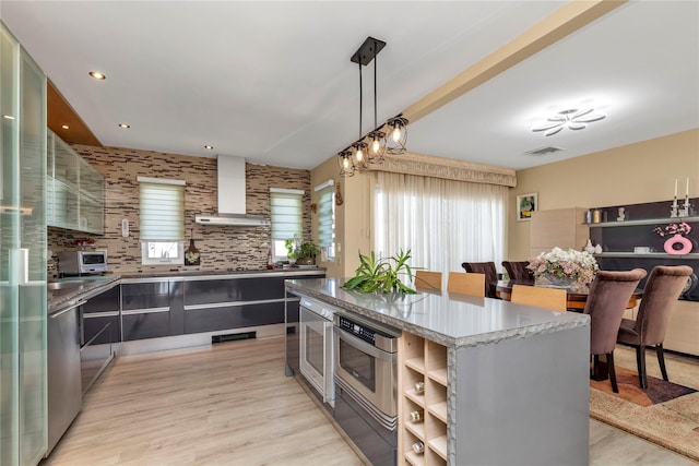
[[[270,219],[260,215],[247,215],[245,205],[245,158],[218,155],[218,213],[194,215],[200,225],[266,226]]]

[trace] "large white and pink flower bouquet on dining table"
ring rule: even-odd
[[[564,287],[589,285],[600,270],[597,261],[589,252],[574,249],[564,251],[560,248],[530,259],[528,268],[537,282],[546,279],[550,285]]]

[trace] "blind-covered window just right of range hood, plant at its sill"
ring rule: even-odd
[[[273,261],[288,260],[286,240],[304,235],[303,201],[303,190],[270,188]]]

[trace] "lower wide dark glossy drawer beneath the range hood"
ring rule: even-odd
[[[215,332],[280,323],[284,323],[283,301],[185,311],[185,333]]]

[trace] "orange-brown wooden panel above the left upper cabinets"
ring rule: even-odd
[[[68,143],[102,147],[97,136],[58,92],[54,83],[48,81],[46,87],[46,124],[48,128]],[[67,124],[68,129],[63,129],[63,124]]]

